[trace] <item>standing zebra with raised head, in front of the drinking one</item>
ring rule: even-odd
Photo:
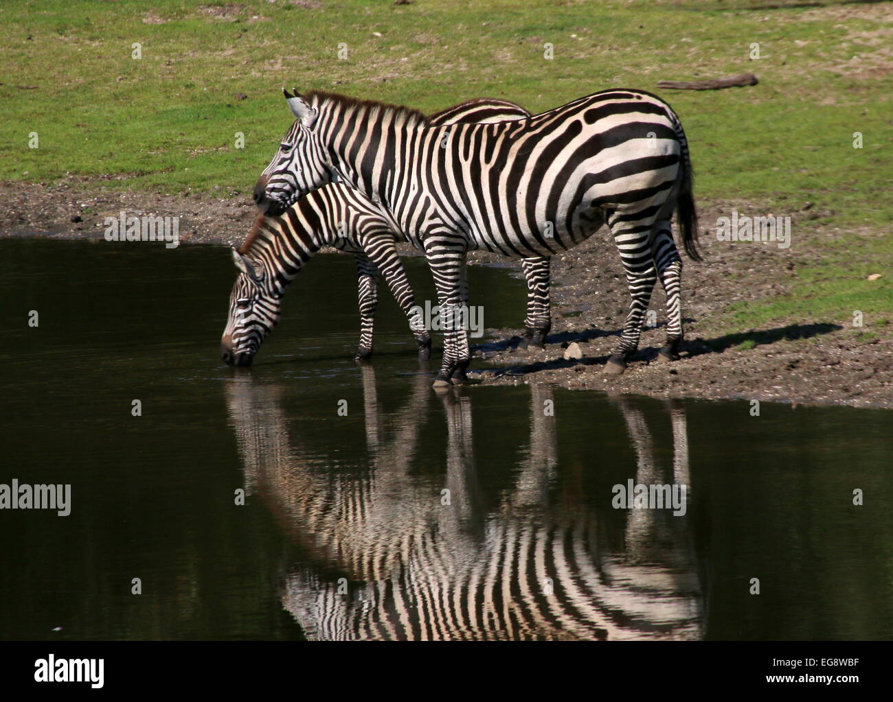
[[[467,303],[466,252],[552,256],[607,225],[621,255],[630,311],[605,371],[622,373],[660,277],[667,297],[659,358],[679,358],[682,262],[675,211],[692,260],[697,211],[689,146],[669,104],[615,88],[533,117],[432,126],[421,112],[345,95],[283,91],[295,123],[255,186],[275,214],[331,181],[380,205],[393,227],[425,252],[438,287],[443,363],[435,387],[463,377],[471,358],[456,320]]]

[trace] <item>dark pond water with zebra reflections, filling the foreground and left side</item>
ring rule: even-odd
[[[889,412],[436,394],[387,298],[374,363],[352,360],[354,265],[335,255],[299,277],[255,367],[231,369],[224,249],[0,254],[0,483],[71,484],[70,516],[0,510],[2,639],[893,630]],[[518,323],[519,281],[473,268],[471,285],[485,326]],[[686,485],[686,514],[613,508],[628,480]]]

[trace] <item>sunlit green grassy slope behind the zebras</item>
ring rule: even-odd
[[[836,319],[854,309],[877,318],[891,308],[893,247],[862,233],[893,219],[893,4],[796,5],[7,0],[0,178],[72,174],[112,187],[245,194],[290,122],[283,86],[426,111],[477,95],[541,111],[605,87],[656,90],[662,78],[751,70],[757,87],[659,91],[686,126],[697,194],[755,203],[751,214],[813,202],[819,217],[794,231],[794,245],[829,252],[805,273],[798,297],[821,292],[808,304]],[[139,61],[133,42],[142,44]],[[753,42],[758,61],[748,58]],[[39,149],[27,148],[31,131]],[[856,131],[863,149],[853,148]],[[244,149],[234,147],[236,132]],[[870,272],[887,275],[869,284]],[[729,320],[755,326],[802,304],[779,299]]]

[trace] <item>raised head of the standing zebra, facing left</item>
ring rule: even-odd
[[[255,185],[258,209],[271,216],[279,216],[299,197],[336,179],[313,128],[319,111],[297,92],[282,92],[296,120]]]

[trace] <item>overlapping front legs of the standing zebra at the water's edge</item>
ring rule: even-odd
[[[438,288],[439,326],[444,332],[444,358],[434,387],[452,385],[454,373],[464,376],[471,360],[465,328],[467,307],[463,310],[465,242],[446,236],[424,238],[425,258]]]

